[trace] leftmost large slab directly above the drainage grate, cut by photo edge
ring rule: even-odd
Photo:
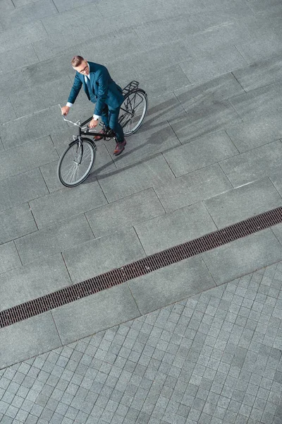
[[[1,310],[71,284],[61,254],[1,274]]]

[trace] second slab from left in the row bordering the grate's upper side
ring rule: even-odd
[[[145,257],[133,228],[85,242],[63,252],[74,283]]]

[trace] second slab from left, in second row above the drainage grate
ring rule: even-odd
[[[94,235],[84,215],[32,232],[18,238],[15,243],[23,264],[44,259],[80,243],[93,240]]]

